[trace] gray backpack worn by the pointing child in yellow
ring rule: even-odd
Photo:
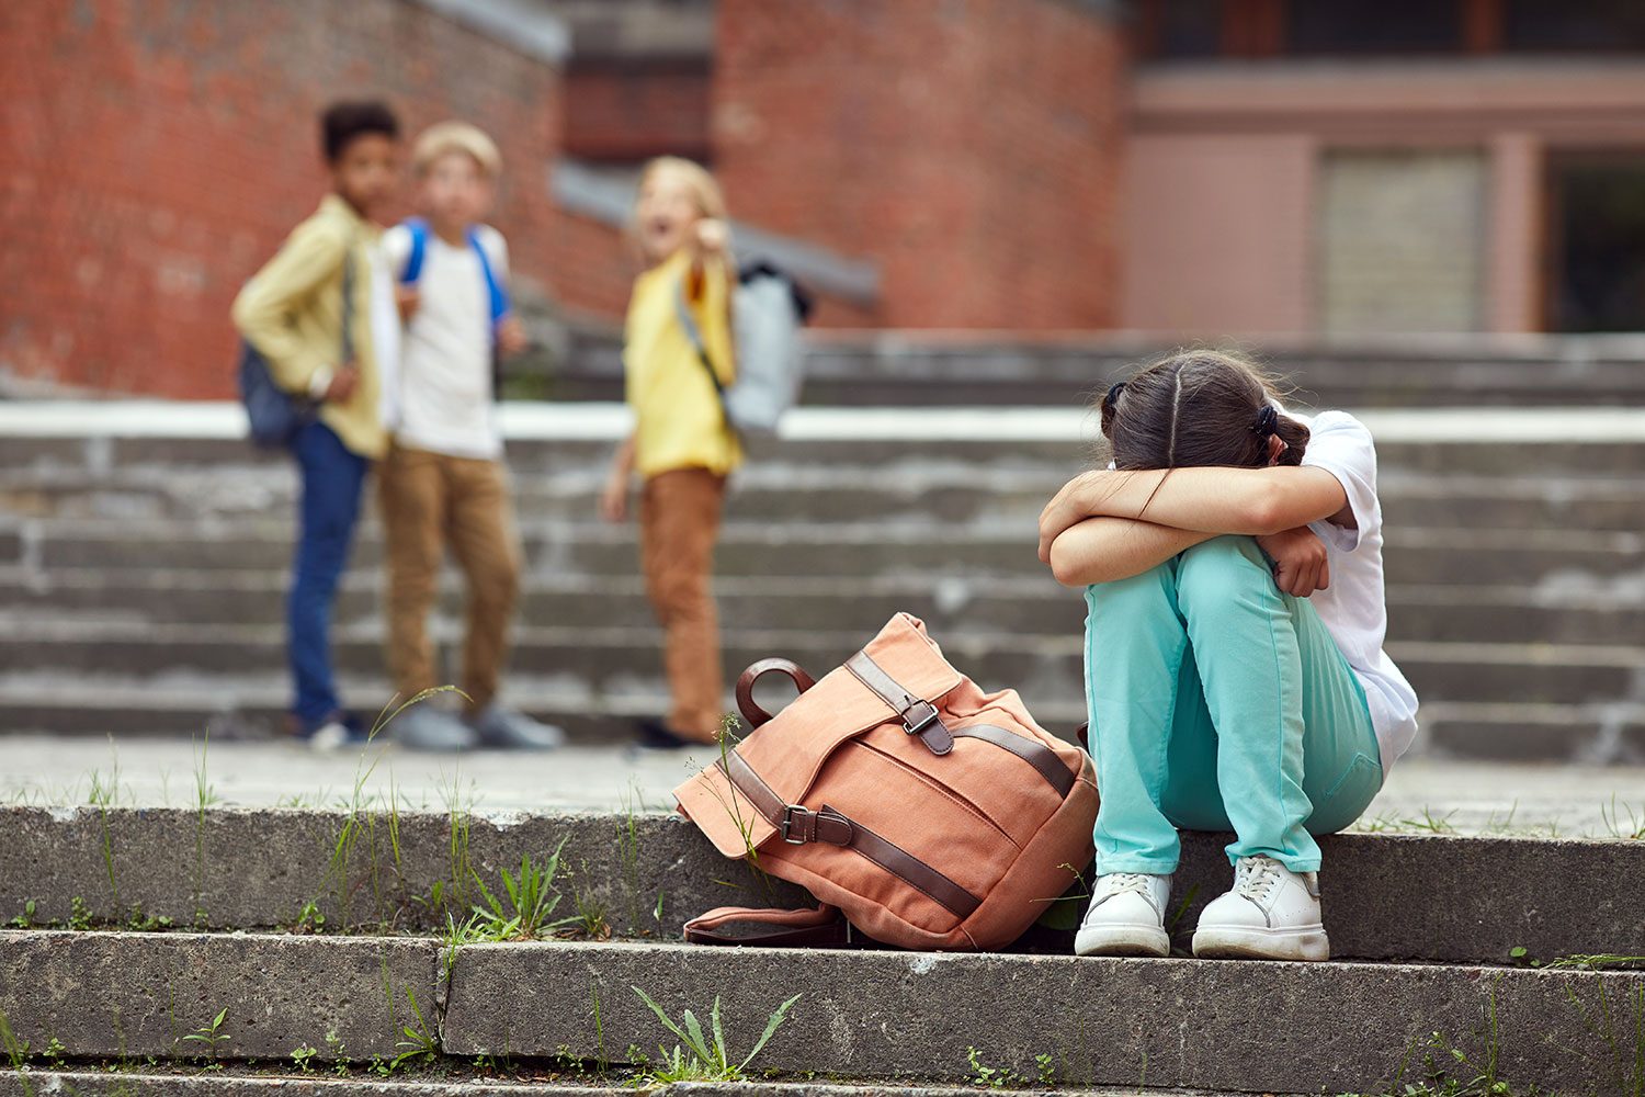
[[[674,288],[674,314],[714,382],[725,423],[742,436],[775,436],[783,413],[799,401],[804,373],[799,329],[811,314],[811,298],[763,260],[739,271],[730,306],[737,380],[730,386],[721,385],[714,372],[702,332],[686,306],[684,285]]]

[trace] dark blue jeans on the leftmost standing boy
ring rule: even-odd
[[[360,488],[372,464],[344,447],[337,434],[314,421],[291,439],[303,477],[298,503],[298,548],[286,599],[286,658],[296,684],[293,712],[299,734],[313,732],[342,709],[331,669],[331,609],[349,562]]]

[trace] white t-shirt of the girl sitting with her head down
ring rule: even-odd
[[[1370,724],[1377,730],[1383,775],[1416,738],[1416,691],[1393,664],[1382,640],[1388,609],[1382,582],[1382,503],[1377,502],[1377,449],[1364,423],[1346,411],[1321,411],[1311,419],[1293,414],[1311,431],[1303,465],[1324,469],[1347,493],[1357,530],[1329,521],[1309,523],[1326,544],[1331,586],[1313,602],[1337,650],[1365,689]]]

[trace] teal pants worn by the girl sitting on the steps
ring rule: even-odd
[[[1255,538],[1221,536],[1086,589],[1097,873],[1176,870],[1178,829],[1234,831],[1229,860],[1319,868],[1313,834],[1382,788],[1365,692]]]

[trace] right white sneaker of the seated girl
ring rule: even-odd
[[[1319,873],[1296,873],[1257,854],[1234,862],[1234,890],[1199,913],[1194,956],[1329,960],[1319,918]]]

